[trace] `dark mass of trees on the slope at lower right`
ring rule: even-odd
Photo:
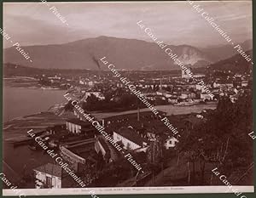
[[[252,163],[253,144],[247,137],[253,127],[252,104],[250,91],[241,95],[235,104],[228,97],[223,97],[217,110],[206,117],[207,121],[189,134],[183,148],[188,153],[188,164],[192,163],[191,184],[198,179],[201,184],[207,183],[206,162],[216,163],[216,167],[227,175],[234,171],[233,167],[247,167]],[[195,163],[200,164],[201,177],[198,179],[195,178]]]

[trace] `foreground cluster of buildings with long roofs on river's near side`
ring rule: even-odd
[[[99,170],[96,169],[99,164],[118,161],[124,156],[90,122],[83,121],[77,112],[75,115],[77,118],[68,119],[66,125],[48,127],[45,141],[47,139],[48,144],[55,145],[54,149],[59,151],[74,173],[80,174],[85,183],[90,184],[98,178]],[[178,143],[178,138],[150,111],[106,117],[101,124],[109,136],[129,153],[146,153],[150,144],[159,137],[163,139],[165,150],[173,150]],[[72,178],[56,164],[47,163],[33,171],[36,188],[65,188],[73,184]]]

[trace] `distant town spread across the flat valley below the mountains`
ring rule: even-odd
[[[192,70],[192,69],[190,69]],[[125,72],[125,71],[124,71]],[[126,71],[131,82],[146,96],[154,105],[196,105],[201,102],[216,101],[219,97],[228,95],[235,102],[237,96],[247,88],[248,83],[252,80],[250,75],[236,74],[230,71],[213,71],[205,74],[194,73],[195,80],[191,79],[184,71],[181,75],[172,75],[166,71],[157,72],[145,71]],[[100,73],[100,72],[99,72]],[[221,75],[216,75],[216,74]],[[203,81],[206,87],[214,94],[212,99],[207,90],[201,87],[197,82]],[[124,83],[119,79],[111,76],[107,71],[100,74],[86,73],[84,76],[40,76],[39,82],[51,85],[52,88],[66,88],[76,94],[76,97],[83,97],[83,101],[90,95],[96,96],[99,100],[106,99],[105,93],[113,92],[111,100],[118,102],[122,92],[117,90],[125,88]],[[132,93],[131,93],[132,94]]]

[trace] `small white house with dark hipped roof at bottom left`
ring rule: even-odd
[[[33,171],[35,173],[35,178],[37,179],[36,189],[44,188],[37,184],[46,184],[48,188],[61,189],[62,169],[60,166],[48,163],[33,169]]]

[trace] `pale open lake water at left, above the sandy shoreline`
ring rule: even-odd
[[[50,106],[67,102],[65,90],[3,87],[3,122],[48,110]]]

